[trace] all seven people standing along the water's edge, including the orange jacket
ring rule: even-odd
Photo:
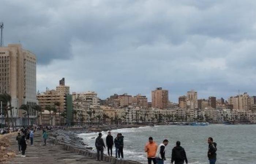
[[[168,145],[168,140],[163,140],[163,142],[160,145],[157,145],[155,141],[153,141],[153,137],[148,138],[148,142],[146,143],[146,146],[144,147],[145,152],[147,153],[147,159],[148,164],[151,164],[153,161],[153,164],[163,164],[166,160],[165,152],[166,152],[166,146]],[[210,164],[215,164],[216,162],[216,151],[217,151],[217,144],[213,142],[213,138],[208,138],[208,160]],[[108,136],[106,137],[106,146],[108,147],[108,155],[112,156],[112,148],[113,145],[116,148],[116,158],[121,159],[124,158],[123,148],[124,148],[124,136],[121,133],[117,134],[116,138],[113,138],[111,135],[111,132],[108,132]],[[103,159],[103,150],[106,149],[102,133],[98,134],[98,137],[95,140],[95,147],[97,149],[97,161]],[[100,158],[101,156],[101,158]],[[172,158],[171,158],[171,164],[188,164],[188,159],[186,152],[184,148],[181,147],[181,142],[177,141],[176,146],[172,149]]]

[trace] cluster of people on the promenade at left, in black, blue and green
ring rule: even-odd
[[[35,129],[37,129],[37,128],[35,128]],[[39,130],[39,129],[37,129],[37,130]],[[20,132],[21,132],[21,134],[20,134]],[[19,152],[22,151],[22,157],[26,157],[25,151],[26,151],[27,145],[28,145],[27,140],[30,140],[31,146],[34,146],[34,133],[35,133],[35,130],[30,129],[30,127],[27,127],[27,128],[23,127],[19,130],[18,135],[16,136],[16,141],[18,142]],[[43,129],[42,138],[44,140],[44,145],[46,145],[47,137],[48,137],[48,135],[47,135],[46,131]]]

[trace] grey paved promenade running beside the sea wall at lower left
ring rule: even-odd
[[[93,157],[75,154],[65,151],[61,145],[54,145],[48,140],[47,145],[43,146],[41,133],[36,132],[34,146],[30,146],[30,141],[26,149],[26,157],[21,157],[18,152],[18,145],[15,136],[9,138],[9,149],[15,150],[16,156],[4,164],[111,164],[95,161]]]

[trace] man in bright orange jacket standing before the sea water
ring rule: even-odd
[[[157,160],[156,160],[157,143],[153,141],[153,137],[148,138],[148,142],[145,146],[145,152],[147,152],[148,164],[151,164],[151,161],[153,161],[154,164],[157,164]]]

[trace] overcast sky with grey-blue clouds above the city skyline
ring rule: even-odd
[[[1,0],[4,44],[37,55],[37,89],[190,89],[199,98],[256,95],[255,0]]]

